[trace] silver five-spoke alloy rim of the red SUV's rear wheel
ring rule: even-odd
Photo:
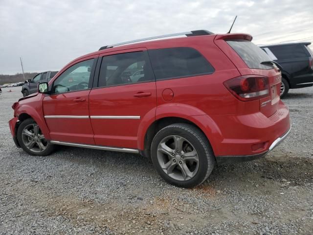
[[[157,147],[157,161],[171,178],[186,181],[199,170],[199,157],[194,146],[177,135],[165,137]]]

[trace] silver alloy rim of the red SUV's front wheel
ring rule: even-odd
[[[22,141],[26,148],[35,153],[43,152],[48,142],[37,124],[29,124],[22,130]]]

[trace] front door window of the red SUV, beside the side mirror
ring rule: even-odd
[[[53,83],[54,94],[88,90],[94,59],[79,62],[64,71]]]

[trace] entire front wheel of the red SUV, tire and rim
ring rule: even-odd
[[[32,118],[22,121],[17,138],[22,149],[33,156],[46,156],[54,150],[54,145],[45,140],[39,125]]]

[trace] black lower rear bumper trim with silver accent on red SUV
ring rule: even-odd
[[[276,146],[278,146],[282,141],[284,141],[287,136],[289,135],[291,131],[291,127],[285,133],[283,136],[277,138],[272,144],[269,146],[268,150],[260,153],[260,154],[254,154],[254,155],[243,155],[243,156],[220,156],[216,158],[217,164],[231,164],[231,163],[242,163],[242,162],[248,162],[253,161],[259,158],[264,157],[268,152],[273,150]]]

